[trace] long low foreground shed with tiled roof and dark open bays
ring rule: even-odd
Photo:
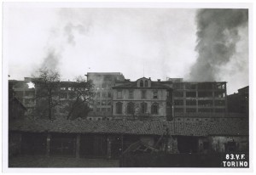
[[[119,157],[138,140],[153,148],[166,135],[172,137],[170,142],[164,141],[158,147],[166,150],[168,143],[170,152],[201,152],[207,149],[206,142],[211,142],[215,150],[224,151],[228,147],[219,143],[237,139],[241,142],[237,148],[247,149],[248,122],[16,120],[9,124],[9,154],[17,151],[18,154],[111,158]]]

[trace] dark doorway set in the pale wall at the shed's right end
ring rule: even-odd
[[[177,150],[180,153],[196,153],[198,150],[198,138],[193,136],[177,137]]]

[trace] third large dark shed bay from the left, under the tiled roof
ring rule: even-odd
[[[107,136],[82,134],[80,138],[80,155],[84,157],[107,156]]]

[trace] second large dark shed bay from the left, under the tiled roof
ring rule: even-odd
[[[75,155],[76,135],[70,133],[53,133],[50,139],[50,155]]]

